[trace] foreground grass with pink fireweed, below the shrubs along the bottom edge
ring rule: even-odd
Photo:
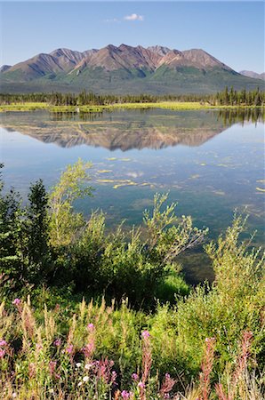
[[[233,366],[226,364],[227,371],[215,378],[215,385],[216,340],[202,340],[201,372],[188,385],[183,380],[178,332],[173,330],[175,314],[172,310],[169,319],[165,307],[158,308],[156,316],[145,316],[128,308],[125,301],[119,309],[115,302],[107,306],[104,300],[37,309],[29,297],[27,301],[15,299],[9,307],[2,303],[0,398],[263,398],[261,379],[248,372],[253,333],[247,331],[238,340]],[[162,372],[161,361],[165,368],[166,364],[174,367],[173,373],[165,368]]]

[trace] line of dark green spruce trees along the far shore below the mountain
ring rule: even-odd
[[[253,91],[235,90],[233,87],[226,87],[222,92],[214,94],[96,94],[85,90],[76,93],[23,93],[10,94],[0,93],[0,104],[44,102],[52,106],[104,106],[116,103],[148,103],[160,101],[196,101],[212,106],[263,106],[265,103],[265,92],[259,88]]]

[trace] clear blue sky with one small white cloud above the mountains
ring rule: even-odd
[[[238,70],[264,71],[263,2],[1,2],[1,64],[59,47],[202,48]]]

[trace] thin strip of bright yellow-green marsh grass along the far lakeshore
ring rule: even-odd
[[[209,104],[201,104],[198,101],[161,101],[157,103],[116,103],[104,106],[88,105],[88,106],[50,106],[48,103],[13,103],[8,105],[1,105],[0,112],[8,111],[35,111],[36,109],[47,109],[50,112],[58,113],[72,113],[79,109],[83,113],[98,113],[103,110],[114,110],[114,109],[148,109],[148,108],[164,108],[172,110],[197,110],[197,109],[209,109],[209,108],[253,108],[253,106],[211,106]]]

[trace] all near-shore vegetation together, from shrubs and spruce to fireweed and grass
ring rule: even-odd
[[[68,166],[50,195],[37,181],[26,206],[1,183],[4,398],[261,400],[264,256],[241,242],[245,220],[205,245],[212,286],[189,288],[178,255],[207,230],[156,195],[143,227],[106,232],[102,212],[73,209],[92,193],[89,166]]]

